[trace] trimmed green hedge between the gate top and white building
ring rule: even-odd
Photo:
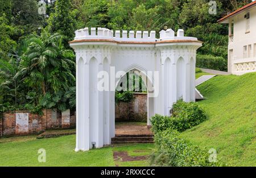
[[[196,67],[208,68],[218,71],[227,71],[228,61],[221,56],[200,55],[196,56]]]

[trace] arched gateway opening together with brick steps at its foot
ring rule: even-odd
[[[115,90],[115,138],[112,143],[151,143],[152,133],[148,126],[149,114],[154,113],[154,100],[148,97],[147,93],[152,91],[147,88],[153,87],[147,86],[151,85],[147,80],[146,74],[137,67],[118,78]]]

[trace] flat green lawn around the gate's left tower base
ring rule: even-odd
[[[127,151],[130,156],[138,156],[149,155],[154,148],[154,144],[129,144],[75,152],[75,135],[48,139],[16,136],[0,140],[0,166],[146,166],[147,160],[115,161],[113,151]],[[40,148],[46,150],[46,163],[38,162]]]

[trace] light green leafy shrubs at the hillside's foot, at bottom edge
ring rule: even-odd
[[[172,129],[160,131],[154,136],[156,151],[150,155],[150,164],[154,166],[220,166],[218,162],[209,162],[207,150],[193,146],[181,138],[179,132]]]

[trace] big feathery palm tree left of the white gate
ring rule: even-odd
[[[63,36],[43,32],[41,36],[30,35],[27,42],[28,48],[16,77],[25,77],[27,84],[37,88],[43,97],[48,93],[48,96],[60,98],[60,93],[75,86],[75,55],[65,49]],[[57,101],[60,100],[55,99]]]

